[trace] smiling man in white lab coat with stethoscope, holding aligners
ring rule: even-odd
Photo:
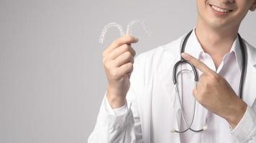
[[[237,36],[256,0],[197,0],[197,9],[196,28],[181,54],[198,71],[196,87],[188,64],[178,67],[179,94],[173,84],[186,35],[135,59],[131,44],[138,39],[116,39],[103,53],[108,87],[88,142],[256,142],[256,49]],[[247,51],[242,99],[241,44]],[[191,129],[203,131],[188,129],[182,112],[188,125],[193,120]]]

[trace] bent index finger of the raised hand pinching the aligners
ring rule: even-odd
[[[132,44],[132,43],[137,43],[139,41],[137,38],[134,36],[130,36],[128,34],[120,37],[119,39],[114,40],[108,49],[106,49],[106,53],[109,51],[112,51],[113,49],[116,49],[119,46],[122,46],[123,44]]]

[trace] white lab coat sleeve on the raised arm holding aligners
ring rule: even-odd
[[[127,92],[127,104],[119,109],[111,109],[105,94],[96,125],[88,137],[88,143],[142,142],[142,128],[137,104],[137,89],[140,87],[137,86],[138,80],[134,80],[142,76],[138,75],[140,74],[140,69],[137,64],[138,58],[134,60],[134,70],[132,71],[130,87]]]

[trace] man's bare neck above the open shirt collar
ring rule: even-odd
[[[221,63],[224,54],[228,53],[237,38],[237,29],[213,28],[202,21],[196,24],[196,36],[202,48],[214,60],[216,68]]]

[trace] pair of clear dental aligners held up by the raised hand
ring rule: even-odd
[[[150,35],[150,32],[147,31],[147,29],[146,29],[145,23],[143,21],[138,21],[138,20],[134,20],[134,21],[129,22],[129,24],[127,25],[126,34],[132,35],[132,26],[134,24],[137,24],[137,23],[142,26],[142,28],[144,29],[144,31],[147,35]],[[113,27],[113,26],[116,27],[119,30],[120,36],[124,35],[124,30],[122,29],[122,26],[120,24],[116,24],[116,23],[112,22],[112,23],[109,23],[106,26],[104,26],[104,29],[101,31],[101,36],[99,38],[99,43],[101,43],[101,44],[104,43],[105,35],[106,35],[108,29]]]

